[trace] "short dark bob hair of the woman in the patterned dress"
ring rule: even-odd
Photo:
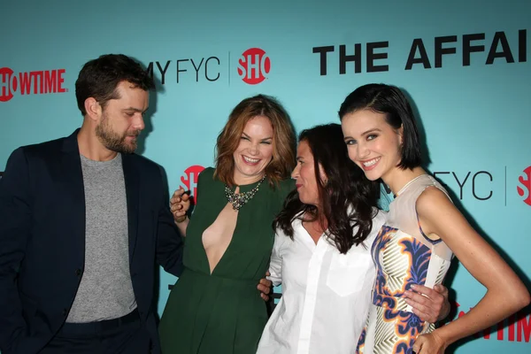
[[[339,118],[349,113],[371,110],[385,114],[389,126],[402,127],[401,159],[398,167],[412,169],[421,165],[419,130],[412,106],[396,86],[370,83],[355,89],[341,104]]]

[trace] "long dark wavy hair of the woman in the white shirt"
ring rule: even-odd
[[[327,221],[327,236],[335,242],[337,250],[347,253],[352,245],[365,241],[373,228],[373,207],[380,196],[378,182],[367,180],[358,165],[350,160],[339,124],[305,129],[299,135],[299,142],[308,142],[312,150],[322,210],[318,215],[317,207],[303,204],[294,190],[274,219],[273,227],[280,227],[293,239],[292,221],[297,214],[303,212],[298,218],[312,221],[321,216]],[[327,175],[327,183],[321,181],[319,165]]]

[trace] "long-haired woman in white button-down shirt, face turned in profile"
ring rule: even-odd
[[[354,353],[371,303],[371,245],[385,219],[379,185],[350,161],[338,124],[301,133],[292,178],[296,191],[274,221],[269,268],[282,297],[257,353]],[[412,302],[420,317],[446,311],[435,303],[448,301],[434,293],[412,295],[423,298]]]

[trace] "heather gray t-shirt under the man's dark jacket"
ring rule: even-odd
[[[81,156],[85,186],[85,270],[66,322],[116,319],[136,308],[129,272],[127,198],[121,155]]]

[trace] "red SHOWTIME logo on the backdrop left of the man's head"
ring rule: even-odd
[[[20,95],[41,95],[66,92],[63,88],[65,69],[14,73],[9,67],[0,68],[0,102]]]

